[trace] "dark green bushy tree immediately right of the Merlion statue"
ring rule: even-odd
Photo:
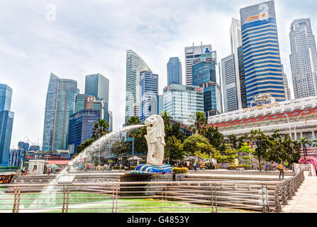
[[[176,160],[184,159],[184,153],[182,151],[182,141],[177,139],[174,135],[167,138],[164,158],[165,160],[168,159],[171,165]]]

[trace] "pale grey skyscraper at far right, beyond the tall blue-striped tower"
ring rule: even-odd
[[[317,50],[311,30],[311,19],[301,18],[291,23],[291,76],[295,99],[317,96]]]

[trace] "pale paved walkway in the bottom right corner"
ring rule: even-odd
[[[305,181],[282,212],[317,213],[317,177],[308,177],[308,171],[305,171]]]

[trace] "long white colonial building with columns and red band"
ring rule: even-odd
[[[317,138],[317,96],[291,101],[262,100],[256,106],[238,111],[209,116],[208,123],[218,127],[226,137],[230,134],[237,136],[250,133],[251,130],[261,129],[270,135],[277,129],[282,135],[300,140],[316,140]]]

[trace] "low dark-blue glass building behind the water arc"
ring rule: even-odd
[[[83,109],[70,116],[68,135],[69,153],[76,153],[77,146],[91,139],[94,123],[100,118],[100,111],[96,109]]]

